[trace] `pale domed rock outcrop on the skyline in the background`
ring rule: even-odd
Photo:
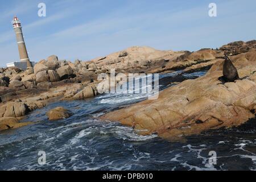
[[[95,63],[96,66],[90,64],[90,70],[100,69],[107,73],[110,69],[115,69],[116,72],[148,72],[149,69],[162,67],[167,61],[175,60],[184,53],[135,46],[91,60],[90,63]]]

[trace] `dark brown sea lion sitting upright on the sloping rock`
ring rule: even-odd
[[[240,79],[238,76],[237,68],[234,66],[229,57],[225,56],[225,61],[223,64],[223,76],[222,79],[225,82],[233,82]]]

